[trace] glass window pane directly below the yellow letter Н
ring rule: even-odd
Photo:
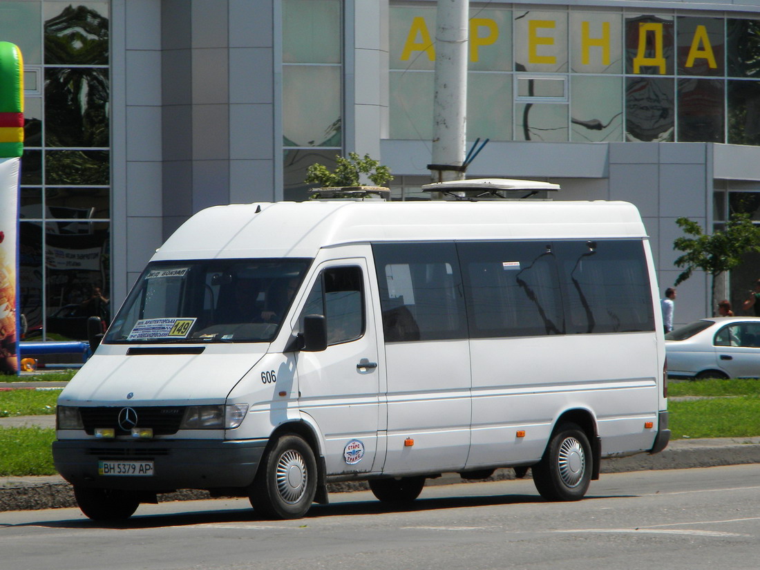
[[[572,141],[622,141],[621,78],[573,75],[570,93]]]

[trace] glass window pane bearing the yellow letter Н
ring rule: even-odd
[[[575,73],[622,72],[622,16],[606,12],[570,14],[571,70]]]

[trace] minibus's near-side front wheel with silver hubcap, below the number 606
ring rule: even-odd
[[[302,518],[316,490],[312,448],[298,435],[283,435],[264,455],[249,498],[255,511],[267,518]]]

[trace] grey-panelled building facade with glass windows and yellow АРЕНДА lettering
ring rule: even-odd
[[[75,336],[154,250],[214,204],[302,200],[336,154],[420,198],[431,162],[435,0],[3,0],[26,66],[21,311]],[[760,0],[470,2],[468,177],[558,182],[636,204],[660,287],[677,217],[760,223]],[[748,258],[736,305],[760,277]],[[701,274],[676,323],[711,315]],[[102,310],[102,304],[97,304]]]

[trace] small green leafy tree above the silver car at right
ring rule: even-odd
[[[749,214],[732,214],[724,230],[717,230],[712,235],[702,233],[701,226],[687,217],[676,220],[686,237],[676,238],[673,249],[684,252],[676,259],[676,266],[686,268],[679,274],[677,287],[689,277],[695,269],[701,269],[712,276],[711,304],[715,304],[715,278],[736,268],[742,263],[742,256],[749,252],[760,252],[760,227],[752,223]]]

